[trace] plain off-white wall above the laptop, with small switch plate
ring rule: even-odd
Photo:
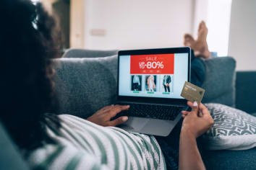
[[[85,48],[182,46],[193,13],[194,0],[85,0]]]

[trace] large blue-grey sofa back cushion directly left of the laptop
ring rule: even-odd
[[[59,114],[85,118],[115,102],[117,55],[106,58],[59,58],[54,62]]]

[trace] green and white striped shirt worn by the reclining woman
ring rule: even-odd
[[[59,132],[47,126],[58,144],[45,144],[30,153],[27,161],[32,169],[166,169],[152,135],[105,128],[72,115],[59,118]]]

